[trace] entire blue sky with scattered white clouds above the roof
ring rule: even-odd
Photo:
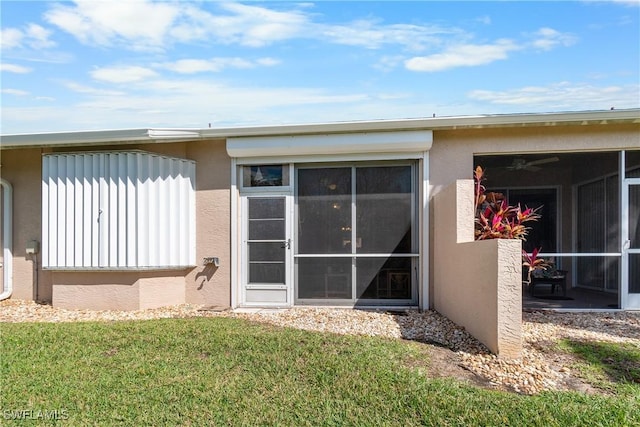
[[[3,134],[640,107],[640,0],[0,7]]]

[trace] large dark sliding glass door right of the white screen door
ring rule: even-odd
[[[415,165],[297,169],[296,302],[414,304]]]

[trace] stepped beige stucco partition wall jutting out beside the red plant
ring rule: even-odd
[[[473,181],[459,180],[433,200],[433,307],[492,352],[522,351],[521,242],[473,240]]]

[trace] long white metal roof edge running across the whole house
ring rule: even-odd
[[[189,142],[258,136],[330,135],[336,133],[457,130],[499,127],[640,124],[640,109],[559,113],[449,116],[310,124],[239,126],[226,128],[138,128],[78,132],[50,132],[0,136],[0,148],[96,146],[105,144]]]

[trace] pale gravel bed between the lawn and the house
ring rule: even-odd
[[[575,389],[566,355],[555,342],[598,340],[640,346],[640,313],[523,313],[523,354],[518,359],[492,355],[487,348],[435,311],[366,311],[344,308],[216,311],[179,305],[139,311],[65,310],[31,301],[0,302],[0,322],[118,321],[178,317],[232,316],[305,330],[408,339],[437,344],[456,352],[460,366],[500,389],[535,394]],[[580,389],[578,387],[578,389]],[[584,391],[588,391],[586,388]]]

